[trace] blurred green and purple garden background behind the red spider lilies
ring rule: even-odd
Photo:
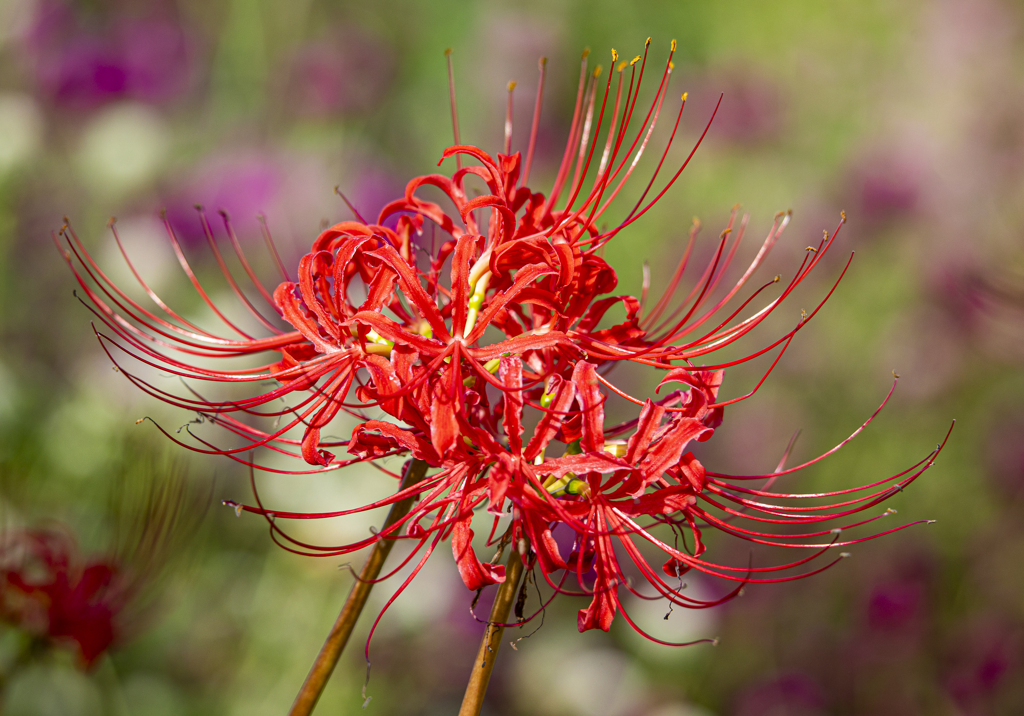
[[[322,226],[350,216],[336,184],[369,215],[433,171],[451,143],[446,47],[463,139],[490,152],[501,146],[506,83],[520,83],[518,146],[537,60],[549,58],[532,182],[544,187],[580,52],[607,64],[615,47],[629,58],[647,36],[654,67],[679,41],[674,91],[689,91],[670,164],[724,100],[658,211],[608,247],[621,286],[639,290],[645,258],[664,286],[691,218],[710,246],[737,203],[751,214],[752,247],[776,211],[794,210],[766,276],[792,276],[804,247],[847,212],[836,255],[787,321],[856,251],[759,395],[726,411],[701,460],[770,471],[798,430],[793,460],[817,455],[874,410],[895,371],[900,385],[876,423],[794,487],[897,472],[955,418],[935,467],[891,501],[899,514],[890,519],[937,522],[715,610],[633,605],[657,635],[719,636],[717,647],[657,646],[622,620],[609,634],[580,635],[583,604],[556,600],[536,634],[503,650],[488,713],[1024,713],[1024,8],[512,5],[0,0],[0,572],[9,584],[28,562],[57,577],[90,565],[122,585],[105,612],[62,634],[93,644],[88,665],[84,645],[53,647],[45,620],[0,604],[3,713],[285,713],[351,584],[344,560],[290,555],[261,520],[220,506],[249,496],[237,466],[186,458],[153,425],[136,425],[154,416],[173,428],[190,416],[111,370],[53,249],[62,217],[123,282],[130,275],[106,227],[117,216],[151,285],[188,300],[161,209],[200,270],[211,257],[197,203],[226,210],[257,251],[265,215],[294,262]],[[764,368],[732,373],[728,394]],[[260,479],[268,499],[324,509],[381,489],[367,487],[380,479],[373,472]],[[357,539],[381,518],[332,529]],[[62,546],[40,551],[30,537],[40,531]],[[745,561],[724,540],[716,548]],[[366,713],[458,708],[481,627],[443,552],[374,638]],[[318,713],[364,713],[360,647],[390,591],[375,592]]]

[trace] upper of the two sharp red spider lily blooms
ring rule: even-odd
[[[531,163],[536,121],[521,175],[518,154],[500,154],[496,161],[473,146],[450,148],[444,158],[466,156],[480,164],[459,169],[452,177],[432,174],[412,180],[406,197],[387,205],[376,224],[360,218],[358,222],[346,221],[328,229],[300,261],[297,283],[287,280],[282,266],[286,281],[272,296],[257,280],[225,215],[226,234],[242,267],[256,292],[291,330],[265,318],[243,292],[227,267],[206,216],[201,215],[211,250],[228,285],[259,324],[271,333],[268,337],[250,335],[214,305],[169,224],[168,236],[189,281],[237,337],[219,336],[188,322],[164,303],[136,273],[157,309],[154,311],[138,303],[108,279],[74,231],[66,226],[62,235],[68,239],[70,251],[65,255],[90,307],[109,331],[99,333],[104,349],[116,348],[142,364],[187,380],[261,383],[268,378],[276,379],[275,386],[265,392],[243,399],[215,401],[198,393],[172,394],[125,371],[125,375],[146,392],[172,405],[198,411],[243,438],[242,445],[229,449],[193,446],[200,452],[224,454],[241,460],[239,456],[253,448],[267,447],[286,454],[301,453],[311,465],[337,468],[348,463],[335,460],[325,449],[344,446],[346,441],[322,440],[322,428],[341,411],[354,412],[361,417],[364,414],[359,411],[375,406],[429,435],[435,450],[444,454],[455,443],[456,416],[466,413],[459,386],[467,380],[497,385],[490,376],[492,367],[503,353],[511,352],[523,359],[528,368],[526,380],[537,387],[531,395],[539,397],[546,381],[570,373],[572,363],[584,354],[598,363],[631,361],[667,370],[675,363],[690,361],[731,343],[763,322],[803,281],[821,259],[834,237],[822,242],[818,252],[805,260],[781,295],[763,309],[736,320],[746,305],[744,302],[702,334],[699,332],[706,325],[719,321],[716,318],[719,309],[735,296],[763,261],[785,227],[787,216],[777,217],[751,267],[715,303],[710,302],[711,296],[735,255],[744,233],[745,217],[735,231],[732,230],[734,218],[730,220],[719,250],[700,282],[675,309],[669,311],[689,261],[695,229],[670,290],[648,314],[642,314],[642,301],[630,296],[595,300],[612,291],[617,282],[615,272],[598,255],[600,247],[664,196],[689,161],[687,158],[665,187],[644,203],[675,137],[685,106],[684,96],[669,142],[640,199],[613,228],[605,231],[596,228],[598,219],[620,194],[644,154],[668,94],[671,54],[645,117],[631,132],[646,52],[640,60],[638,56],[629,64],[628,83],[624,82],[626,62],[620,64],[614,73],[618,79],[613,109],[607,112],[611,120],[589,192],[584,192],[584,185],[590,176],[597,145],[596,141],[590,141],[590,134],[591,129],[595,135],[599,134],[605,124],[611,74],[601,93],[595,124],[593,115],[599,94],[599,73],[588,73],[585,58],[569,141],[554,186],[547,197],[522,185]],[[627,87],[625,98],[624,85]],[[579,152],[574,148],[579,148]],[[469,177],[481,180],[488,193],[469,199],[466,186]],[[421,199],[417,191],[425,185],[443,192],[455,212],[446,212],[438,204]],[[563,193],[569,198],[565,206],[558,208],[558,198]],[[482,234],[477,217],[481,212],[489,214],[490,219]],[[394,228],[383,225],[396,216]],[[429,265],[421,267],[413,235],[422,236],[426,224],[431,234],[440,229],[449,239],[429,257]],[[735,239],[727,246],[730,234],[734,234]],[[120,246],[116,230],[115,239]],[[125,258],[128,260],[127,256]],[[442,283],[442,268],[447,262],[451,262],[449,280]],[[605,313],[616,303],[625,305],[626,321],[599,329]],[[503,333],[506,340],[484,343],[488,328]],[[799,328],[755,355],[785,342]],[[398,357],[387,361],[395,345],[399,346],[394,351]],[[205,361],[267,353],[272,357],[263,365],[237,370],[211,369]],[[112,359],[115,359],[113,354]],[[400,388],[391,389],[388,381],[395,377],[395,371],[402,370],[402,361],[409,364],[409,369],[401,376]],[[119,360],[115,362],[120,366]],[[424,368],[426,370],[422,370]],[[353,384],[356,386],[355,401],[349,403]],[[411,409],[411,404],[418,402],[414,396],[417,390],[428,391],[426,399],[430,410]],[[269,406],[292,395],[304,396],[297,405],[286,409],[274,410]],[[641,401],[637,403],[642,405]],[[261,430],[237,417],[239,414],[275,418],[281,424],[272,431]],[[300,425],[304,431],[302,438],[289,437],[290,431]]]

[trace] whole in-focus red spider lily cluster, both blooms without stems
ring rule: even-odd
[[[510,86],[503,153],[492,157],[462,144],[457,133],[456,144],[441,160],[456,160],[454,173],[413,179],[404,196],[385,206],[375,222],[356,212],[357,220],[325,230],[299,261],[297,281],[290,280],[278,259],[284,281],[272,292],[257,279],[226,214],[225,231],[241,267],[233,273],[201,215],[227,284],[268,332],[266,337],[251,335],[208,298],[169,224],[185,273],[236,335],[224,337],[190,323],[144,283],[157,308],[143,306],[106,278],[70,227],[61,231],[69,264],[102,324],[97,332],[101,343],[124,375],[152,395],[198,412],[238,441],[221,447],[197,436],[198,444],[188,444],[191,449],[248,465],[254,465],[249,457],[254,449],[273,451],[308,465],[295,473],[394,456],[430,468],[424,478],[407,479],[387,499],[353,510],[284,512],[265,508],[258,498],[256,505],[234,505],[265,515],[286,548],[339,555],[381,539],[409,540],[415,548],[402,564],[419,559],[412,580],[447,539],[463,581],[478,590],[505,579],[498,557],[481,560],[473,547],[474,522],[487,520],[488,546],[497,545],[499,552],[518,550],[555,593],[590,597],[579,615],[581,631],[607,630],[616,613],[633,625],[622,610],[620,590],[640,594],[638,576],[657,597],[702,607],[735,594],[744,583],[797,579],[825,568],[835,560],[824,566],[811,562],[829,548],[870,539],[841,539],[841,529],[884,516],[862,513],[932,464],[934,452],[904,472],[863,487],[802,495],[774,492],[771,482],[821,458],[788,469],[780,464],[770,474],[737,476],[714,472],[694,456],[691,447],[712,437],[725,407],[750,397],[764,382],[762,378],[749,393],[723,399],[719,393],[726,369],[774,351],[766,378],[820,304],[750,354],[710,364],[709,359],[763,324],[821,264],[839,228],[805,252],[787,282],[775,277],[749,287],[790,221],[787,213],[780,213],[753,262],[731,285],[723,284],[748,223],[733,212],[695,281],[684,282],[684,277],[694,254],[696,224],[658,300],[647,300],[646,283],[640,297],[615,295],[617,278],[601,248],[665,196],[697,146],[655,188],[680,126],[683,94],[646,185],[625,216],[606,223],[663,109],[671,104],[673,71],[670,54],[653,99],[638,110],[646,46],[632,61],[618,62],[614,51],[612,59],[617,66],[602,78],[600,68],[590,71],[584,56],[568,140],[547,194],[528,185],[544,84],[542,60],[525,158],[511,151]],[[252,281],[251,291],[240,287],[240,271]],[[770,292],[774,297],[752,307]],[[257,294],[270,312],[257,308]],[[625,311],[617,323],[609,318],[616,310]],[[180,395],[122,365],[123,354],[187,384],[255,388],[269,378],[273,382],[269,389],[236,399],[211,399],[199,389]],[[255,367],[210,367],[215,364],[210,359],[251,355],[267,357]],[[636,397],[613,384],[607,376],[621,363],[658,372],[654,395]],[[283,398],[291,405],[281,408]],[[605,403],[612,398],[632,406],[635,417],[606,424]],[[375,411],[376,419],[369,411]],[[340,413],[359,420],[346,440],[325,432]],[[270,421],[275,422],[267,428]],[[350,457],[339,458],[340,448]],[[761,479],[769,483],[745,487]],[[823,497],[836,501],[815,499]],[[410,498],[415,505],[401,519],[352,544],[311,545],[283,528],[288,520],[337,517]],[[705,554],[709,528],[759,545],[797,548],[803,556],[765,565],[718,563]],[[559,535],[571,536],[568,551],[566,540],[559,546]],[[651,565],[652,552],[660,553],[664,564]],[[715,601],[692,598],[683,593],[680,579],[690,570],[728,580],[735,588]],[[575,585],[569,590],[565,582],[573,575]]]

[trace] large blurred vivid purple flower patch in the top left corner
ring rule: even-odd
[[[188,38],[170,13],[95,24],[48,0],[40,3],[23,45],[40,92],[75,109],[116,99],[161,102],[188,86]]]

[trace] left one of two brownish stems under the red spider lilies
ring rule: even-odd
[[[426,476],[426,473],[427,463],[422,460],[411,460],[407,465],[406,475],[399,490],[416,485]],[[381,531],[387,530],[404,517],[415,500],[416,497],[411,496],[391,505],[391,511],[388,512]],[[308,716],[316,707],[316,702],[324,692],[324,687],[327,686],[328,679],[331,678],[345,644],[348,643],[348,637],[352,635],[355,622],[359,618],[362,607],[366,606],[370,591],[374,588],[373,581],[380,575],[381,567],[384,566],[384,561],[393,546],[394,540],[389,539],[379,540],[374,545],[370,556],[367,557],[367,561],[362,565],[362,571],[356,578],[355,584],[352,585],[352,591],[345,599],[345,605],[341,607],[341,614],[338,615],[331,633],[324,642],[324,646],[321,647],[319,654],[316,655],[316,661],[309,669],[309,674],[306,676],[302,688],[295,697],[292,710],[288,712],[289,716]]]

